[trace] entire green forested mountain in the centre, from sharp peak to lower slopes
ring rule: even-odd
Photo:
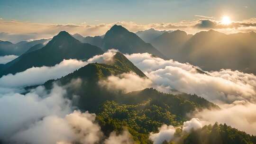
[[[124,93],[99,85],[111,75],[134,72],[147,78],[123,54],[116,53],[108,64],[89,63],[58,80],[47,81],[44,86],[51,89],[53,83],[65,87],[67,98],[74,99],[73,106],[82,111],[89,110],[97,115],[97,121],[105,135],[120,132],[125,126],[135,141],[148,144],[148,134],[163,124],[180,126],[188,120],[187,113],[195,109],[219,108],[196,95],[181,93],[172,95],[152,88]],[[192,98],[190,98],[192,97]]]

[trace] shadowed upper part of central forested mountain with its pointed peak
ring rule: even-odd
[[[79,103],[76,106],[82,110],[90,109],[90,111],[95,112],[103,101],[106,99],[113,100],[116,96],[116,92],[100,87],[98,82],[110,75],[119,75],[127,72],[134,72],[138,76],[146,78],[146,75],[123,54],[116,53],[111,64],[90,63],[61,79],[47,81],[45,86],[50,89],[53,82],[66,85],[80,79],[80,87],[76,87],[76,89],[69,87],[66,90],[72,95],[80,96]]]

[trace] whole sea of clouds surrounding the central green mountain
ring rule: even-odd
[[[23,87],[61,78],[88,63],[112,63],[116,52],[110,50],[85,62],[63,60],[52,67],[32,67],[24,72],[2,76],[0,139],[21,144],[132,144],[127,131],[120,135],[113,132],[105,138],[100,126],[95,123],[96,115],[75,111],[72,101],[65,99],[64,87],[55,84],[52,90],[47,91],[39,86],[27,94],[20,94],[24,91]],[[178,90],[196,94],[218,104],[220,109],[204,109],[188,114],[192,119],[183,124],[183,131],[189,132],[191,128],[201,128],[217,121],[256,135],[256,116],[253,113],[256,111],[255,75],[231,70],[202,73],[200,68],[189,63],[163,60],[147,53],[125,56],[147,78],[128,72],[99,81],[101,86],[124,92],[153,87],[162,92]],[[159,133],[151,133],[149,138],[154,144],[171,141],[175,129],[174,126],[163,125],[159,127]]]

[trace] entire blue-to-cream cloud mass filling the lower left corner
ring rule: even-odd
[[[40,86],[26,95],[0,97],[0,140],[18,144],[132,144],[128,131],[120,135],[112,132],[105,138],[95,122],[96,115],[73,111],[65,96],[66,91],[55,84],[49,93]]]

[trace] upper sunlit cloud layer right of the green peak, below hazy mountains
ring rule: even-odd
[[[126,55],[158,90],[178,90],[196,94],[218,103],[232,103],[235,100],[256,101],[256,76],[238,71],[200,73],[189,63],[163,60],[150,54]]]

